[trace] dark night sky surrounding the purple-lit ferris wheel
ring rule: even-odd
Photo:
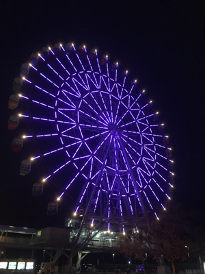
[[[204,1],[5,1],[0,15],[1,224],[51,221],[45,217],[50,197],[31,198],[41,167],[34,166],[27,177],[18,175],[25,151],[10,152],[14,132],[7,129],[8,98],[20,65],[31,53],[71,41],[97,48],[100,55],[108,53],[111,62],[120,62],[122,70],[137,78],[170,136],[174,199],[203,212]],[[64,211],[59,225],[64,224]]]

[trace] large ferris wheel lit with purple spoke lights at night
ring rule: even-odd
[[[10,126],[31,123],[24,142],[35,140],[40,151],[22,164],[22,175],[44,159],[41,184],[55,177],[56,201],[73,195],[73,214],[83,210],[92,226],[103,219],[109,231],[141,212],[159,219],[174,179],[167,136],[152,101],[117,62],[85,46],[55,44],[21,66],[14,90],[11,108],[19,96],[29,111],[10,117]]]

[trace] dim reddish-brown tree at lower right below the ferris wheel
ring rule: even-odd
[[[169,210],[156,220],[146,214],[133,223],[137,227],[127,235],[122,246],[126,256],[134,256],[139,260],[146,253],[156,259],[163,258],[172,263],[173,273],[176,273],[176,260],[187,258],[187,241],[189,225],[184,220],[184,212],[174,203]]]

